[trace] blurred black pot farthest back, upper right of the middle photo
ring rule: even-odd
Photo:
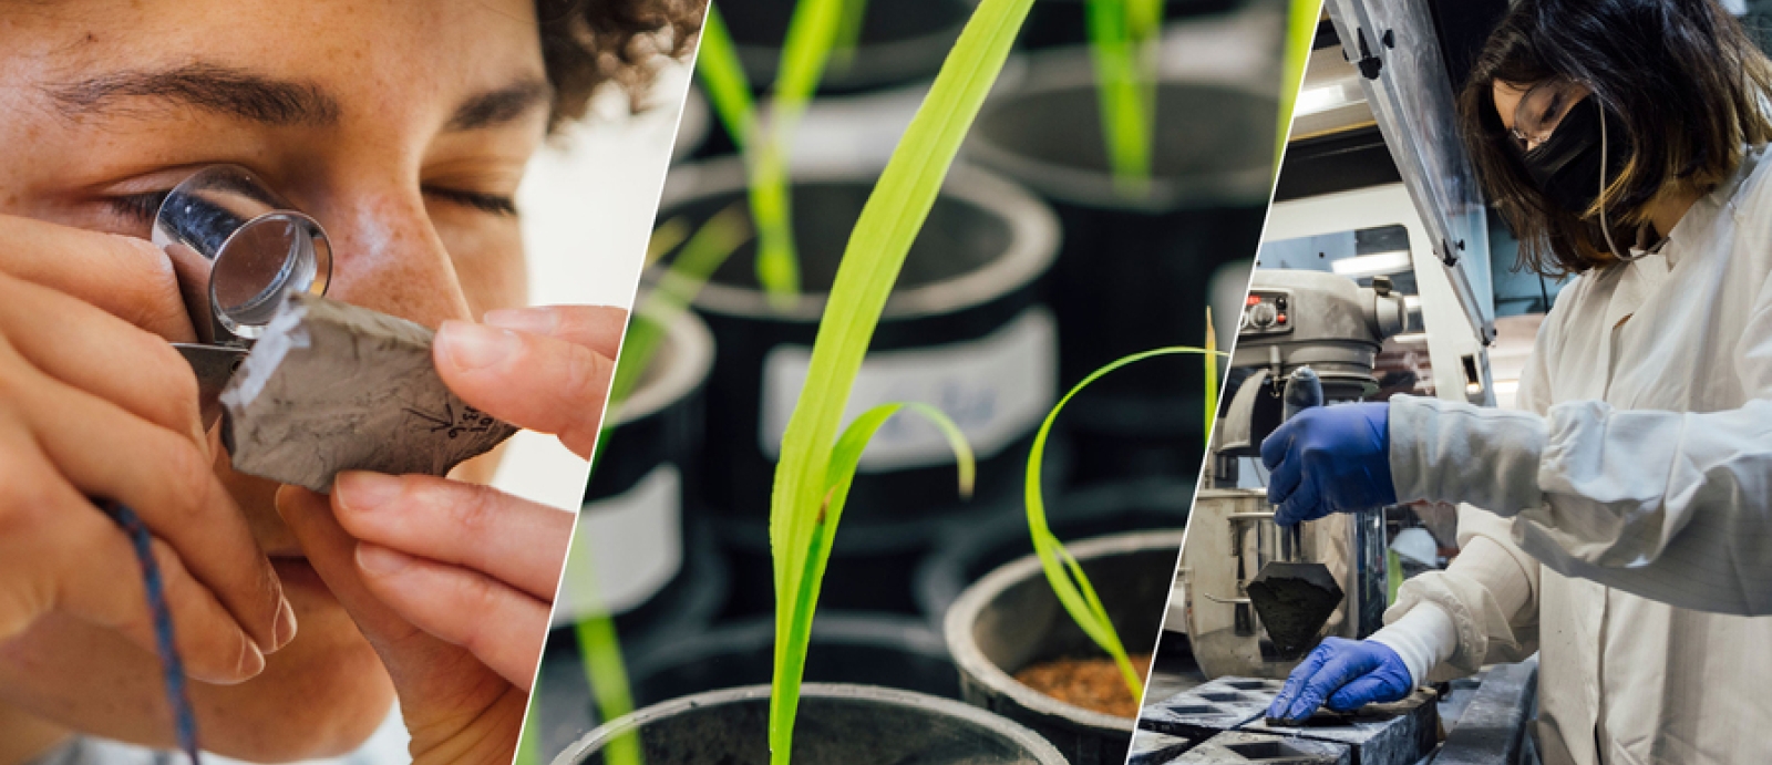
[[[1044,0],[1042,0],[1044,2]],[[1157,89],[1150,195],[1115,191],[1086,57],[1038,57],[987,103],[968,158],[1058,212],[1065,243],[1051,294],[1060,377],[1120,356],[1205,340],[1209,274],[1256,250],[1271,188],[1274,94],[1166,80]],[[1219,317],[1219,338],[1235,331]],[[1077,480],[1194,476],[1205,444],[1198,358],[1145,361],[1095,382],[1065,414]]]

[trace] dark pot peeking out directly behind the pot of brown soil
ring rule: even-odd
[[[1125,531],[1187,528],[1194,485],[1173,480],[1104,483],[1047,498],[1045,522],[1061,540]],[[937,629],[948,607],[975,581],[1033,554],[1024,512],[978,524],[952,524],[916,568],[916,604]]]

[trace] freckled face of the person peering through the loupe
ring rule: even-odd
[[[425,326],[525,301],[510,195],[551,94],[530,0],[0,5],[0,212],[145,237],[152,193],[237,163],[326,227],[331,298]],[[276,487],[220,462],[299,632],[259,678],[193,687],[206,749],[351,747],[388,710],[386,673],[301,563]],[[46,618],[0,650],[0,730],[30,714],[165,740],[158,673],[115,634]]]

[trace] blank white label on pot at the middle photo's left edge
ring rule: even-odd
[[[666,462],[613,498],[578,512],[553,623],[626,613],[682,568],[682,475]]]

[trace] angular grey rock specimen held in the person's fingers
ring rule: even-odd
[[[317,492],[347,469],[441,476],[517,432],[457,398],[434,333],[292,292],[222,391],[234,469]]]

